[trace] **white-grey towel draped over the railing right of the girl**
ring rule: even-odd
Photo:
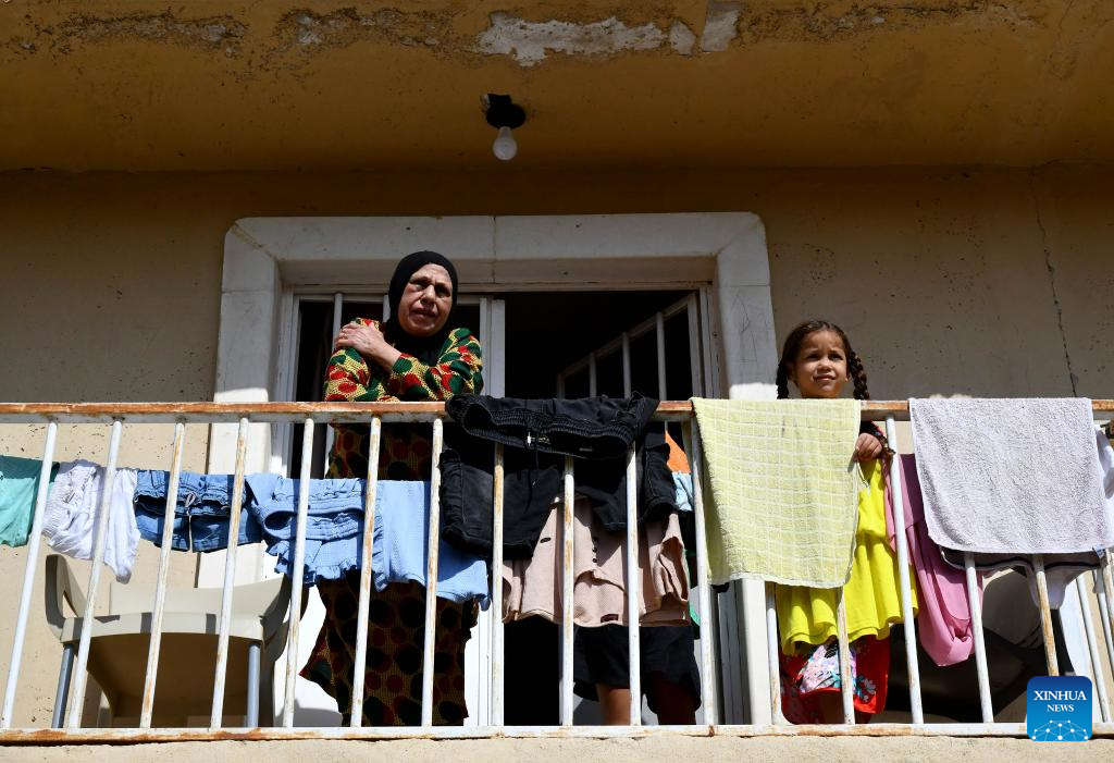
[[[1073,554],[1114,544],[1091,401],[910,400],[928,532],[941,548]]]

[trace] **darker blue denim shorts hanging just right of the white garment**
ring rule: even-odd
[[[141,469],[136,482],[136,524],[139,536],[156,546],[163,544],[166,490],[170,475]],[[232,475],[197,475],[184,471],[178,478],[178,501],[174,507],[170,547],[178,551],[216,551],[228,547],[232,509]],[[240,545],[257,544],[263,529],[247,511],[240,515]]]

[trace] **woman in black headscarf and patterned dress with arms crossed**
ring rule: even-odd
[[[391,276],[391,320],[358,319],[341,329],[326,366],[326,401],[447,400],[482,389],[479,341],[468,329],[451,329],[457,271],[436,252],[404,257]],[[379,451],[380,479],[430,477],[429,427],[388,424]],[[336,425],[329,477],[368,476],[367,427]],[[420,517],[414,521],[421,522]],[[336,700],[348,725],[352,681],[364,681],[363,724],[418,725],[421,722],[422,644],[426,588],[392,584],[372,591],[367,671],[356,671],[356,608],[360,574],[322,580],[317,590],[325,622],[302,676]],[[459,724],[465,706],[465,642],[475,622],[471,604],[438,599],[433,654],[433,723]]]

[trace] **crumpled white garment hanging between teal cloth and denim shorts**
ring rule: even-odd
[[[50,548],[74,559],[92,559],[106,472],[105,467],[91,461],[59,464],[42,518],[42,537]],[[131,508],[135,491],[136,470],[117,469],[108,502],[104,558],[120,583],[131,579],[139,549],[139,529]]]

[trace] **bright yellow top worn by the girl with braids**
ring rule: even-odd
[[[856,531],[851,579],[843,589],[847,633],[850,640],[862,636],[886,638],[890,626],[901,622],[897,555],[886,532],[883,467],[868,461],[862,467],[868,486],[859,490],[859,529]],[[916,575],[910,569],[912,609],[917,612]],[[836,590],[778,586],[778,627],[782,652],[793,644],[819,645],[836,636]]]

